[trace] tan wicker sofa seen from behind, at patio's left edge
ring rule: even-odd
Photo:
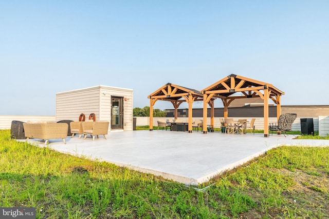
[[[62,138],[64,144],[67,137],[67,123],[24,123],[26,141],[29,138],[39,138],[47,144],[49,139]]]

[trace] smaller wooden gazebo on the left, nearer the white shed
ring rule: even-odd
[[[194,101],[203,101],[204,95],[200,91],[168,83],[148,97],[150,99],[150,131],[153,129],[153,106],[155,102],[161,100],[170,101],[173,104],[175,119],[177,119],[179,105],[184,102],[189,104],[188,131],[192,132],[192,104]],[[210,99],[212,98],[210,97]]]

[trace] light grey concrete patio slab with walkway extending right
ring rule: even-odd
[[[266,151],[282,146],[329,146],[328,140],[294,140],[295,136],[273,134],[224,134],[220,132],[187,133],[166,130],[112,131],[86,140],[67,137],[42,141],[29,140],[40,147],[72,155],[85,155],[101,161],[161,175],[186,185],[207,182],[225,170],[242,165]],[[23,140],[24,141],[24,140]]]

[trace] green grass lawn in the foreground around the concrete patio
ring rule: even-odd
[[[0,206],[36,218],[328,218],[328,160],[328,147],[280,147],[196,190],[0,130]]]

